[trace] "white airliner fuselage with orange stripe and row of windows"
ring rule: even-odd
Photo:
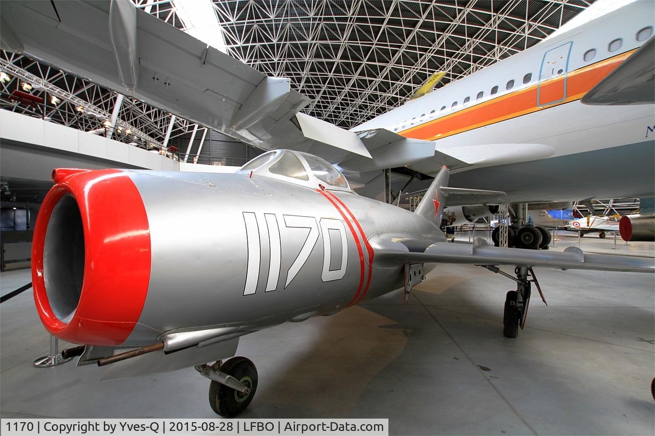
[[[631,3],[352,130],[435,141],[471,164],[453,170],[454,186],[506,191],[512,202],[652,195],[655,106],[580,98],[652,37],[653,12],[650,1]]]

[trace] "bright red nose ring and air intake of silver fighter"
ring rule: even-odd
[[[150,230],[141,195],[121,170],[58,169],[32,242],[32,283],[48,332],[116,346],[134,329],[148,290]]]

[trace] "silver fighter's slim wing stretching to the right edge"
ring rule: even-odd
[[[407,246],[409,245],[409,247]],[[476,265],[540,266],[562,270],[655,272],[655,260],[646,257],[584,253],[578,247],[564,251],[493,247],[481,238],[474,244],[437,242],[424,251],[410,251],[413,245],[388,242],[375,250],[375,262],[461,263]]]

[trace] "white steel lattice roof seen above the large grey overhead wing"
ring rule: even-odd
[[[174,1],[133,0],[182,28]],[[227,52],[291,79],[304,110],[345,128],[533,46],[592,0],[213,0]]]

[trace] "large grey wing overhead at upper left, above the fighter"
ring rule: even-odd
[[[370,160],[357,134],[299,112],[310,100],[290,79],[267,77],[130,1],[111,8],[108,1],[3,1],[1,46],[262,149],[309,151],[332,163]]]

